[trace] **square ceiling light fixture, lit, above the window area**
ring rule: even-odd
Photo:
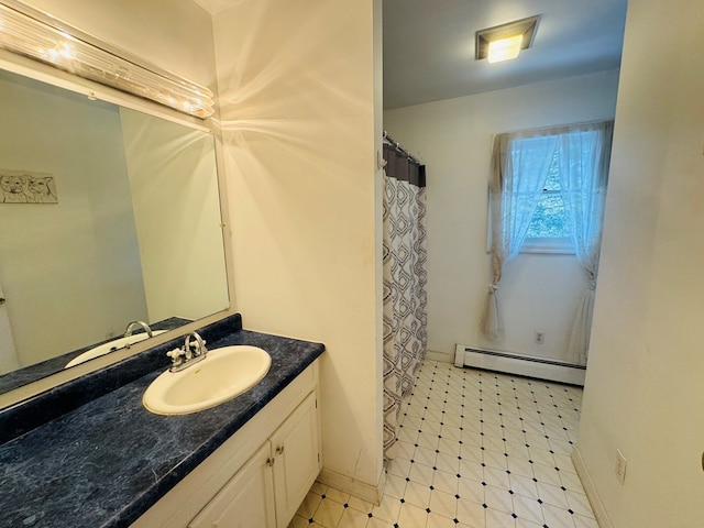
[[[538,19],[540,15],[477,31],[475,58],[487,58],[490,63],[516,58],[521,50],[532,44]]]

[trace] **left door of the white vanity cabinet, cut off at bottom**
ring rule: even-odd
[[[274,528],[271,446],[264,442],[188,528]]]

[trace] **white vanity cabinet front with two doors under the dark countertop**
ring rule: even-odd
[[[318,362],[132,528],[286,528],[321,468]]]

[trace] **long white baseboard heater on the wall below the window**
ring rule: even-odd
[[[573,365],[532,355],[479,350],[463,344],[458,344],[455,348],[454,366],[473,366],[572,385],[584,385],[584,375],[586,374],[586,367],[583,365]]]

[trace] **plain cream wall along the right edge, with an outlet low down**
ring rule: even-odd
[[[701,1],[629,1],[579,439],[603,528],[704,518],[702,35]]]

